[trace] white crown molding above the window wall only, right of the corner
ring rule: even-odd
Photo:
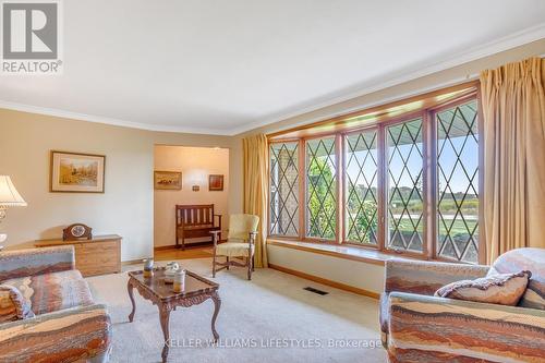
[[[294,109],[292,111],[281,113],[279,116],[274,117],[274,118],[268,118],[265,120],[259,120],[259,121],[255,121],[252,123],[247,123],[243,126],[234,129],[232,131],[232,135],[242,134],[242,133],[245,133],[245,132],[258,129],[258,128],[263,128],[263,126],[276,123],[276,122],[288,120],[288,119],[291,119],[291,118],[294,118],[294,117],[298,117],[298,116],[301,116],[304,113],[313,112],[313,111],[319,110],[322,108],[326,108],[326,107],[330,107],[330,106],[334,106],[334,105],[337,105],[337,104],[340,104],[343,101],[348,101],[348,100],[353,99],[353,98],[362,97],[364,95],[367,95],[367,94],[371,94],[374,92],[378,92],[378,90],[382,90],[382,89],[385,89],[388,87],[392,87],[392,86],[396,86],[396,85],[399,85],[402,83],[407,83],[407,82],[410,82],[410,81],[413,81],[413,80],[416,80],[416,78],[420,78],[420,77],[423,77],[423,76],[426,76],[426,75],[429,75],[433,73],[445,71],[445,70],[448,70],[448,69],[451,69],[451,68],[455,68],[455,66],[458,66],[458,65],[461,65],[461,64],[464,64],[464,63],[468,63],[471,61],[475,61],[475,60],[481,59],[481,58],[489,57],[489,56],[493,56],[493,55],[496,55],[496,53],[499,53],[499,52],[502,52],[502,51],[506,51],[506,50],[509,50],[509,49],[512,49],[516,47],[520,47],[520,46],[523,46],[525,44],[536,41],[536,40],[540,40],[543,38],[545,38],[545,23],[541,23],[536,26],[529,27],[529,28],[523,29],[521,32],[513,33],[511,35],[499,38],[497,40],[486,43],[482,46],[476,46],[476,47],[470,48],[463,52],[459,52],[457,55],[453,55],[452,57],[449,57],[448,60],[432,61],[428,63],[427,66],[420,68],[416,71],[401,72],[401,74],[399,74],[396,77],[379,78],[378,81],[375,81],[373,84],[363,86],[362,88],[360,88],[355,92],[344,93],[344,94],[340,94],[337,96],[331,95],[331,97],[327,101],[311,104],[311,105],[307,105],[305,107],[301,107],[301,108]],[[541,55],[540,57],[544,58],[544,55]],[[469,75],[465,75],[464,77],[451,80],[450,82],[447,82],[444,84],[434,85],[433,87],[427,87],[427,88],[423,88],[423,89],[415,89],[414,92],[412,92],[410,94],[402,94],[402,95],[399,95],[397,97],[392,97],[390,99],[384,99],[380,102],[361,105],[358,108],[344,109],[344,110],[342,110],[341,113],[331,112],[327,116],[305,120],[305,121],[299,122],[296,124],[290,124],[290,128],[306,124],[306,123],[322,121],[324,119],[329,119],[329,118],[340,116],[343,113],[363,110],[365,108],[373,107],[373,106],[379,106],[382,104],[388,104],[390,101],[403,99],[407,97],[419,95],[421,93],[431,92],[431,90],[439,89],[443,87],[448,87],[451,85],[456,85],[458,83],[462,83],[464,81],[470,81],[470,80],[476,78],[477,76],[479,76],[477,74],[469,74]],[[278,130],[275,130],[275,131],[280,131],[281,129],[283,129],[283,128],[279,128]]]

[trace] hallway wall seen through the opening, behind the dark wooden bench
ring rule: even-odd
[[[177,204],[214,204],[214,213],[222,215],[222,230],[229,223],[229,149],[157,145],[155,170],[181,171],[182,190],[154,192],[155,246],[175,243],[174,208]],[[208,191],[208,174],[223,174],[223,191]],[[192,186],[199,185],[198,192]],[[192,239],[192,241],[209,241]],[[181,243],[181,241],[180,241]]]

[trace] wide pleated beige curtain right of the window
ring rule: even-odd
[[[545,61],[481,73],[484,228],[488,263],[518,247],[545,247]]]

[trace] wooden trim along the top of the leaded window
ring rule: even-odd
[[[477,85],[479,85],[479,80],[474,80],[474,81],[470,81],[470,82],[464,82],[464,83],[461,83],[461,84],[458,84],[458,85],[455,85],[455,86],[450,86],[450,87],[447,87],[447,88],[436,89],[436,90],[433,90],[433,92],[428,92],[428,93],[415,95],[415,96],[412,96],[412,97],[409,97],[409,98],[403,98],[403,99],[391,101],[391,102],[387,102],[387,104],[384,104],[384,105],[379,105],[379,106],[366,108],[364,110],[349,112],[349,113],[346,113],[346,114],[341,114],[341,116],[338,116],[338,117],[335,117],[335,118],[329,118],[329,119],[326,119],[326,120],[313,122],[313,123],[310,123],[310,124],[299,125],[299,126],[291,128],[291,129],[288,129],[288,130],[269,133],[269,134],[267,134],[267,137],[268,138],[274,138],[276,136],[281,136],[281,135],[284,135],[284,134],[288,134],[288,133],[292,133],[292,132],[295,132],[295,131],[313,129],[313,128],[323,126],[323,125],[330,124],[330,123],[332,123],[332,124],[335,124],[335,123],[342,123],[342,121],[347,121],[348,119],[352,119],[352,118],[356,118],[356,117],[363,117],[365,114],[370,114],[370,113],[374,113],[374,112],[379,112],[379,111],[386,110],[388,108],[399,107],[399,106],[408,105],[408,104],[411,104],[411,102],[414,102],[414,101],[419,101],[419,100],[423,100],[423,99],[429,99],[429,98],[434,98],[434,97],[437,97],[437,96],[450,94],[450,93],[458,92],[458,90],[463,90],[463,89],[474,90],[474,88]],[[459,98],[460,95],[456,95],[455,97]],[[443,100],[438,100],[437,101],[437,105],[440,105],[440,104],[443,104]],[[433,105],[427,105],[425,108],[431,108],[431,107],[433,107]],[[331,133],[331,131],[329,131],[329,133]],[[288,137],[288,138],[291,138],[291,137]]]

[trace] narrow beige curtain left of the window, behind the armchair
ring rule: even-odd
[[[268,144],[263,134],[243,141],[244,213],[259,217],[255,266],[267,267]]]

